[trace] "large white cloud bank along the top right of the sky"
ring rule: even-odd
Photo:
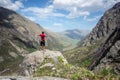
[[[53,0],[55,9],[69,12],[67,18],[89,16],[92,12],[105,11],[120,0]]]

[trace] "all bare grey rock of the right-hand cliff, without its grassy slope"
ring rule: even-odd
[[[102,45],[93,53],[93,62],[89,68],[99,71],[109,66],[115,73],[120,74],[120,3],[104,14],[82,46],[96,41]]]

